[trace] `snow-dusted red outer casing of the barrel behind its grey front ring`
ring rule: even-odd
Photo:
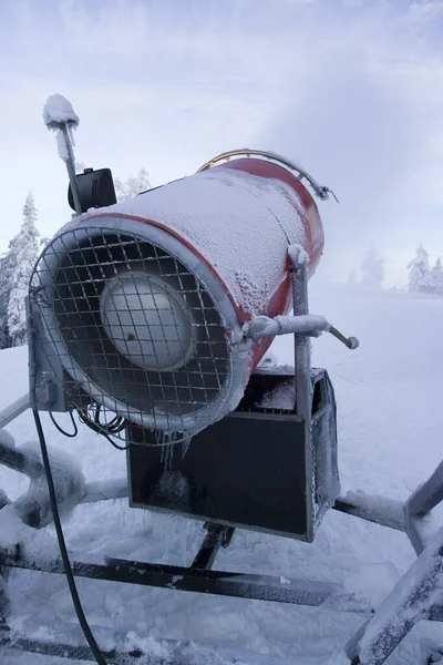
[[[323,249],[317,205],[296,175],[254,157],[220,163],[81,218],[109,216],[167,231],[190,248],[223,285],[243,325],[254,315],[291,309],[287,248],[299,244],[311,276]],[[104,224],[105,225],[105,224]],[[255,344],[254,369],[271,340]]]

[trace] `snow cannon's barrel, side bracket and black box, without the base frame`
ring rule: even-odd
[[[31,279],[35,408],[123,440],[133,507],[312,540],[339,492],[333,391],[308,348],[340,336],[307,306],[323,248],[308,187],[327,187],[239,150],[82,213],[94,191],[113,195],[94,184],[110,173],[71,181],[81,214]],[[284,334],[295,372],[260,364]]]

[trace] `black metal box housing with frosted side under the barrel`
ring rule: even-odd
[[[130,426],[131,507],[311,542],[339,495],[334,395],[324,370],[311,381],[310,437],[287,408],[293,375],[269,371],[253,375],[237,410],[187,449],[155,446],[155,432]],[[286,392],[286,408],[259,406],[272,392]]]

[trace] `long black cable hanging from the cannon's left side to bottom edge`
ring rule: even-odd
[[[51,471],[51,466],[50,466],[49,456],[48,456],[48,448],[47,448],[47,442],[44,439],[42,423],[40,420],[40,415],[35,409],[32,409],[32,415],[33,415],[34,421],[35,421],[37,433],[39,434],[40,448],[41,448],[41,453],[42,453],[42,459],[43,459],[43,467],[44,467],[44,472],[47,474],[47,481],[48,481],[52,516],[54,519],[54,526],[55,526],[55,531],[56,531],[56,538],[59,541],[60,554],[61,554],[62,562],[63,562],[64,574],[66,576],[68,585],[69,585],[69,589],[71,592],[72,603],[74,605],[74,610],[75,610],[80,626],[83,631],[83,634],[86,638],[87,644],[90,645],[90,648],[93,653],[95,661],[99,663],[99,665],[106,665],[106,661],[104,659],[103,654],[100,651],[97,643],[95,642],[95,637],[92,634],[89,623],[86,621],[86,617],[84,615],[83,607],[82,607],[82,604],[81,604],[81,601],[79,597],[79,592],[75,586],[75,580],[74,580],[74,575],[72,573],[71,562],[70,562],[68,550],[66,550],[66,543],[64,542],[62,523],[60,521],[59,509],[56,505],[54,481],[52,478],[52,471]]]

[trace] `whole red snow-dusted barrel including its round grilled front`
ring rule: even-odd
[[[320,260],[303,178],[327,197],[286,160],[234,151],[63,227],[39,275],[52,303],[47,330],[82,390],[169,432],[233,411],[270,344],[245,339],[243,324],[291,309],[290,245],[307,252],[309,276]]]

